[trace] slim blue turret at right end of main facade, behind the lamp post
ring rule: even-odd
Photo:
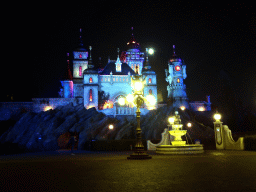
[[[156,73],[151,69],[151,65],[148,61],[148,48],[146,48],[146,59],[144,62],[144,67],[142,69],[142,75],[146,76],[146,84],[144,87],[144,96],[153,95],[157,100],[157,81]],[[156,107],[156,106],[155,106]]]

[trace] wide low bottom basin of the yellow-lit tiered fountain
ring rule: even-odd
[[[156,147],[157,154],[175,155],[175,154],[198,154],[203,153],[202,144],[187,144],[187,145],[160,145]]]

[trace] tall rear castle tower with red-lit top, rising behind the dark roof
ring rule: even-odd
[[[137,70],[138,74],[141,75],[144,61],[144,53],[140,52],[140,44],[136,42],[133,33],[127,45],[128,49],[126,51],[125,61],[134,70],[134,72],[136,72]],[[121,60],[124,60],[122,55]]]

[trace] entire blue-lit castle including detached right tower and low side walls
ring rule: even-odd
[[[144,96],[152,95],[157,99],[157,76],[149,64],[148,51],[141,51],[133,34],[126,51],[122,51],[119,56],[118,49],[116,60],[108,60],[105,68],[96,69],[92,61],[92,47],[89,46],[89,50],[84,48],[81,33],[80,29],[80,43],[73,51],[73,73],[68,59],[68,75],[61,81],[60,98],[33,98],[33,111],[45,111],[72,103],[83,104],[87,109],[95,107],[106,115],[135,115],[135,107],[128,104],[120,106],[118,100],[132,93],[131,76],[136,74],[145,77]],[[188,102],[184,84],[187,77],[186,65],[176,55],[175,46],[165,74],[168,82],[167,99],[173,107],[211,111],[210,96],[207,96],[206,101]],[[158,106],[144,105],[141,114],[144,115]]]

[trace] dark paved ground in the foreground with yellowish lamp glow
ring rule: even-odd
[[[256,152],[200,155],[67,151],[0,156],[0,191],[256,191]]]

